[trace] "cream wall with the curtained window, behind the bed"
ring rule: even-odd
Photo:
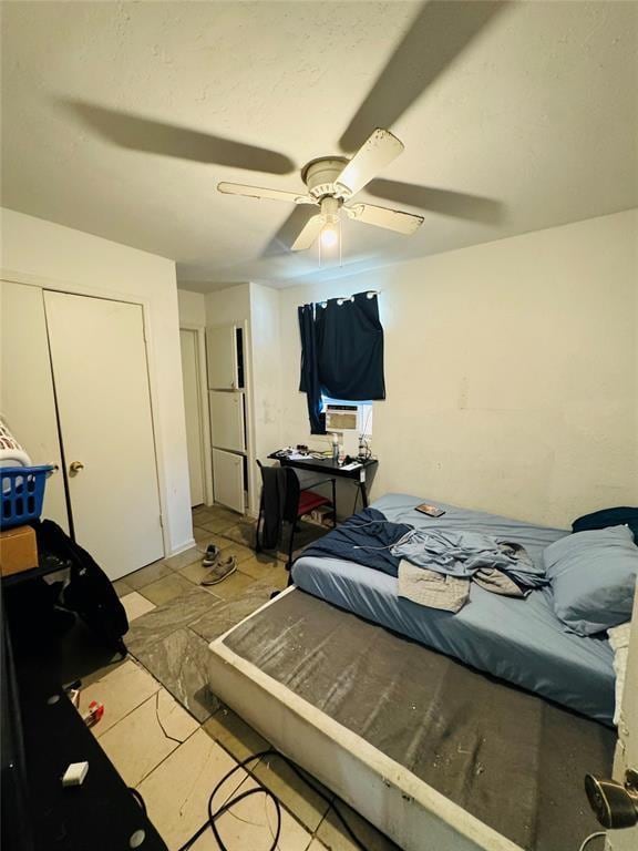
[[[380,289],[373,495],[567,526],[638,502],[638,211],[281,290],[282,444],[309,440],[297,306]]]

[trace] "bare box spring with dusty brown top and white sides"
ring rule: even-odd
[[[210,688],[409,851],[558,851],[596,829],[606,727],[291,587],[210,645]]]

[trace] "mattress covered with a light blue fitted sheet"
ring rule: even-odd
[[[445,514],[432,519],[414,511],[434,502]],[[567,534],[435,500],[389,494],[373,503],[388,520],[414,526],[484,532],[525,546],[534,561]],[[478,670],[534,691],[603,724],[614,717],[613,650],[604,636],[567,632],[552,608],[547,588],[525,599],[503,597],[473,584],[470,602],[457,614],[400,598],[397,578],[354,562],[301,556],[295,584],[340,608],[380,624]]]

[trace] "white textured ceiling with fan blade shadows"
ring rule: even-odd
[[[307,161],[370,125],[405,152],[359,197],[425,222],[412,237],[346,222],[343,273],[638,205],[635,2],[4,2],[2,18],[3,205],[171,257],[191,289],[333,275],[287,250],[305,208],[215,187],[298,191]]]

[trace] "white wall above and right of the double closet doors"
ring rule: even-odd
[[[188,546],[193,527],[175,264],[10,209],[1,211],[1,233],[3,278],[143,306],[165,550]]]

